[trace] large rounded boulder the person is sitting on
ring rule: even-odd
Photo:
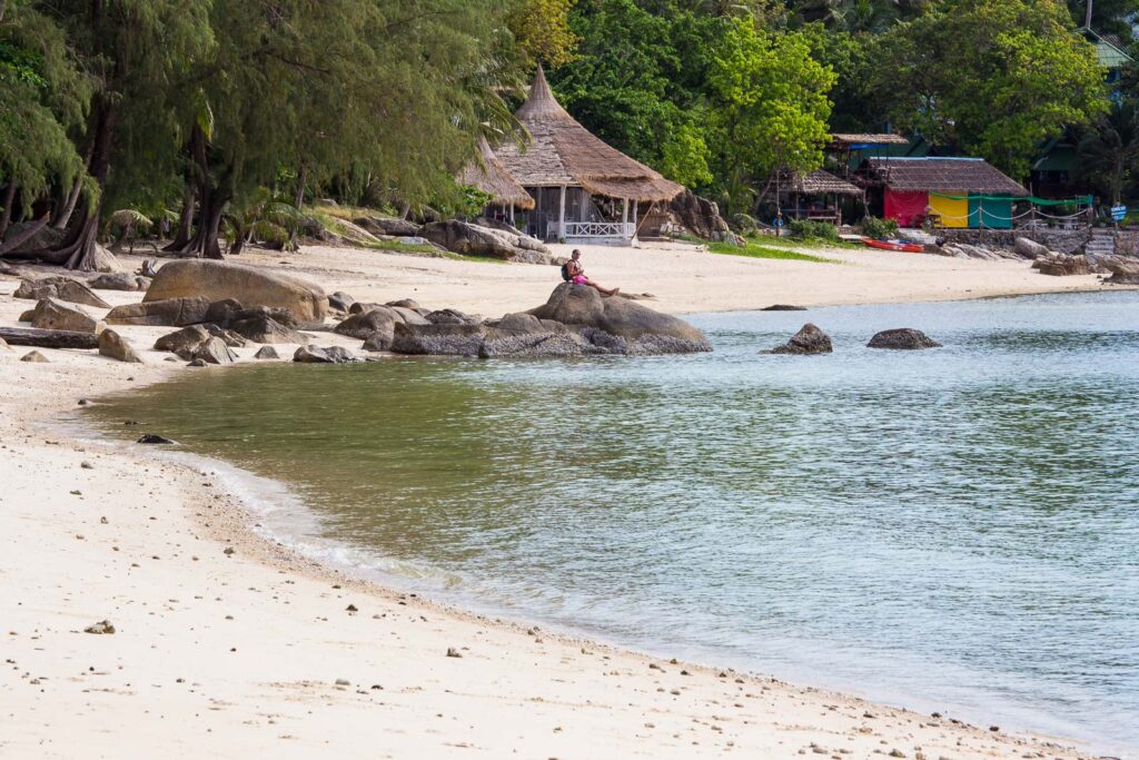
[[[539,319],[552,319],[564,325],[580,325],[604,330],[628,341],[652,336],[657,344],[672,342],[674,351],[711,351],[704,333],[682,319],[663,314],[629,299],[601,294],[588,285],[563,283],[554,288],[549,300],[530,313]],[[661,341],[669,338],[669,341]]]

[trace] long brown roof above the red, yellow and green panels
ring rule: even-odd
[[[868,158],[866,163],[870,178],[891,190],[1029,195],[984,158]]]

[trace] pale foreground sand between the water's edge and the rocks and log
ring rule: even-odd
[[[0,353],[13,661],[0,711],[21,726],[0,750],[17,757],[134,757],[171,742],[212,757],[1085,757],[1063,739],[673,663],[346,578],[260,536],[216,475],[51,428],[79,398],[163,382],[180,363],[46,353],[54,363]],[[82,632],[103,619],[114,636]]]

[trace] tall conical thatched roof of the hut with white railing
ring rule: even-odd
[[[591,195],[630,201],[671,201],[685,188],[593,137],[566,113],[538,67],[530,98],[515,114],[530,131],[521,150],[513,142],[495,154],[526,187],[580,186]]]

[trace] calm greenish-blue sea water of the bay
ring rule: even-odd
[[[757,353],[808,319],[834,354]],[[204,370],[91,416],[285,481],[311,512],[267,529],[408,589],[1136,752],[1139,295],[693,321],[714,353]],[[945,348],[863,348],[900,326]]]

